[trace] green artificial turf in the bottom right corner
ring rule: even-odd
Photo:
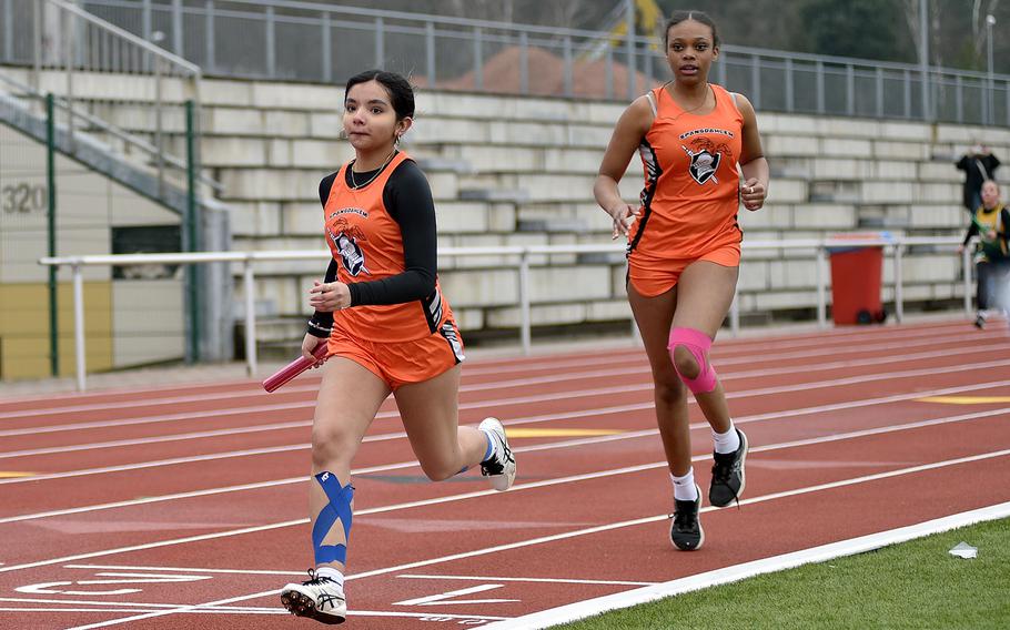
[[[948,551],[960,541],[978,547],[978,558],[951,556]],[[758,576],[556,628],[1008,629],[1010,519]]]

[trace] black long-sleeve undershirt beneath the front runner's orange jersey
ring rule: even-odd
[[[376,171],[355,173],[354,180],[367,182]],[[351,169],[345,171],[345,183],[354,187]],[[337,173],[320,182],[320,203],[326,205]],[[400,225],[403,241],[404,271],[386,278],[356,282],[347,285],[351,306],[403,304],[427,297],[435,291],[438,274],[435,203],[432,189],[421,169],[405,160],[390,174],[382,191],[382,201],[390,216]],[[331,260],[325,282],[336,280],[337,262]],[[309,332],[326,336],[333,325],[333,314],[316,311],[309,324]]]

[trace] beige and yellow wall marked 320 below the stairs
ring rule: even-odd
[[[174,226],[179,216],[84,166],[57,155],[57,254],[109,254],[130,247],[131,228]],[[46,148],[0,124],[0,378],[51,372],[49,183]],[[154,236],[158,236],[155,231]],[[175,251],[178,244],[165,248]],[[152,277],[154,274],[154,277]],[[173,270],[84,268],[87,365],[102,370],[179,358],[183,354],[182,283]],[[61,375],[74,370],[70,273],[58,276]]]

